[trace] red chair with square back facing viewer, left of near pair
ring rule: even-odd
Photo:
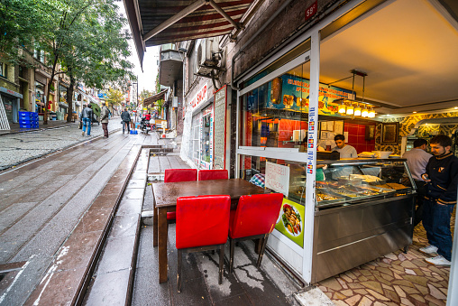
[[[183,253],[219,248],[218,283],[223,283],[224,245],[229,232],[230,210],[231,197],[229,196],[197,196],[177,199],[178,292],[181,292]]]

